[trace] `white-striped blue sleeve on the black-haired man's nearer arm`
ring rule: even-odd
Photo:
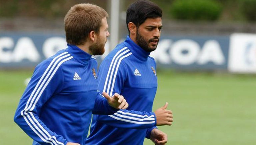
[[[126,78],[126,69],[122,63],[117,64],[118,68],[113,65],[114,62],[105,59],[101,63],[98,75],[98,89],[110,96],[115,92],[120,94]],[[120,128],[145,129],[156,125],[156,116],[153,112],[119,110],[113,115],[95,115],[94,117],[97,121]]]

